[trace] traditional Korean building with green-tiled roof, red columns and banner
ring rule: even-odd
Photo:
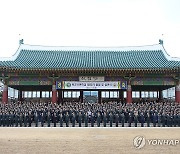
[[[140,98],[141,91],[157,91],[162,99],[163,90],[176,87],[175,101],[180,102],[180,59],[170,57],[162,43],[135,47],[21,43],[12,57],[0,58],[0,79],[4,103],[8,87],[19,91],[19,100],[23,100],[23,91],[40,91],[40,97],[42,91],[49,91],[53,103],[71,99],[132,103],[132,91],[139,91]]]

